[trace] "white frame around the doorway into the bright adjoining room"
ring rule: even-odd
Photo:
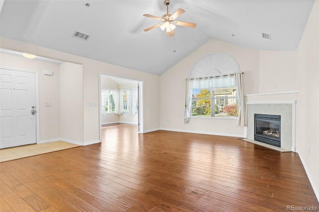
[[[138,111],[138,119],[140,122],[139,131],[137,133],[144,133],[144,108],[143,108],[143,99],[144,99],[144,89],[143,89],[143,80],[126,78],[123,76],[114,76],[107,73],[100,72],[99,73],[99,131],[100,131],[100,143],[102,142],[102,122],[101,122],[101,77],[110,77],[110,78],[119,78],[124,80],[131,80],[139,83],[139,111]]]

